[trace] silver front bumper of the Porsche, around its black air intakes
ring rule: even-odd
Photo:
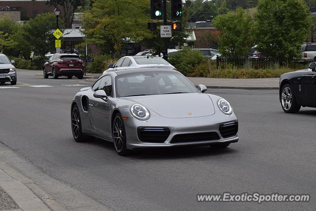
[[[124,121],[127,137],[126,145],[128,149],[134,149],[146,147],[212,145],[237,142],[239,140],[237,134],[232,137],[224,138],[219,130],[221,124],[233,121],[237,121],[237,117],[234,113],[232,115],[225,115],[221,111],[217,111],[215,114],[210,116],[193,118],[164,118],[154,114],[148,121],[140,121],[132,117]],[[139,127],[165,127],[170,130],[170,134],[164,142],[142,142],[139,140],[137,134],[137,128]],[[176,135],[208,132],[217,133],[218,139],[209,141],[195,140],[185,142],[171,142]]]

